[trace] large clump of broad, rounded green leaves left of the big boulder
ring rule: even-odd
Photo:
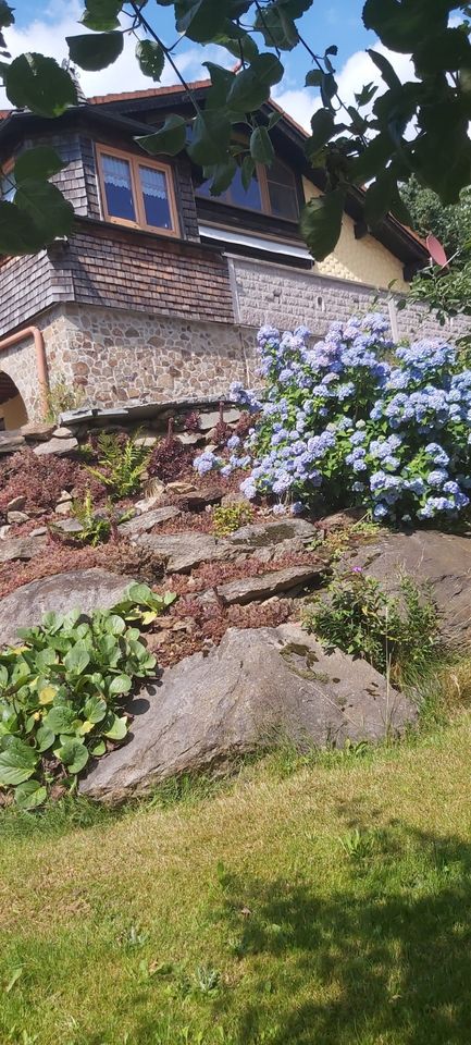
[[[137,679],[156,672],[156,657],[126,620],[139,617],[139,600],[142,618],[152,593],[134,585],[127,594],[121,612],[48,613],[38,627],[20,630],[22,646],[0,652],[0,787],[23,809],[41,806],[58,782],[75,786],[90,755],[127,734],[123,702]],[[164,608],[165,599],[156,602]]]

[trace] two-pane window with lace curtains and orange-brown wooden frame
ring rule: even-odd
[[[97,161],[107,221],[178,235],[170,167],[101,145],[97,146]]]

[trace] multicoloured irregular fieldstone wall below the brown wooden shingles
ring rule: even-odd
[[[253,383],[255,336],[233,324],[66,305],[41,320],[52,383],[100,406],[129,399],[223,395]]]

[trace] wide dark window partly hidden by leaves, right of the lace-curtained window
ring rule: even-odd
[[[240,164],[240,157],[236,159]],[[240,165],[237,167],[232,185],[221,196],[211,196],[210,186],[211,179],[208,179],[197,186],[196,195],[213,199],[216,204],[257,210],[272,218],[284,218],[287,221],[297,221],[299,218],[296,176],[278,158],[271,167],[258,163],[247,189],[243,185]]]

